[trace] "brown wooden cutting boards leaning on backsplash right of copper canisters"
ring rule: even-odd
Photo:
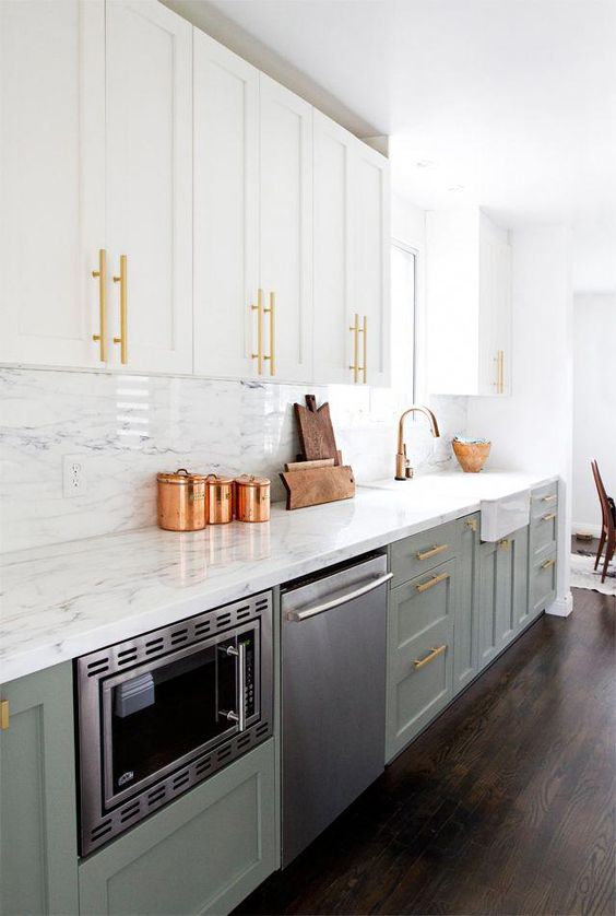
[[[317,409],[315,395],[306,395],[306,407],[295,404],[294,409],[301,455],[281,473],[287,509],[352,498],[355,495],[353,468],[342,463],[329,403]]]

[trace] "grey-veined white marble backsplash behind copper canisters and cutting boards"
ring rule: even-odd
[[[329,400],[336,442],[358,482],[393,473],[408,398],[351,386],[96,372],[0,369],[0,552],[155,524],[157,471],[259,473],[283,497],[279,471],[298,451],[292,406]],[[415,468],[452,467],[465,398],[433,398],[441,438],[408,424]],[[66,497],[64,456],[79,456],[86,492]]]

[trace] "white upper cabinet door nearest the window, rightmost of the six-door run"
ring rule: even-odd
[[[391,377],[389,163],[362,142],[354,162],[353,226],[354,312],[362,327],[363,380],[387,387]]]

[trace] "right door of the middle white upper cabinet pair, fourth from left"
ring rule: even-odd
[[[260,74],[260,259],[262,369],[312,377],[312,108]],[[273,298],[272,298],[273,296]],[[257,350],[259,333],[254,332]],[[259,362],[259,361],[257,361]]]

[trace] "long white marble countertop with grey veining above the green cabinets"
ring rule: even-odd
[[[146,528],[0,559],[0,683],[313,573],[556,480],[460,471],[376,481],[262,525]]]

